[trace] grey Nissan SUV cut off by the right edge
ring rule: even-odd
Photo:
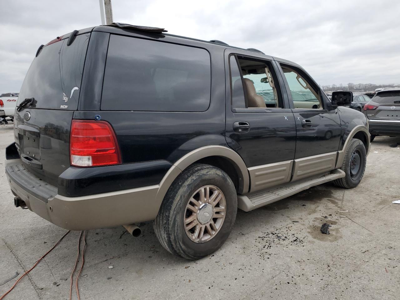
[[[385,88],[364,106],[371,142],[375,136],[400,136],[400,88]]]

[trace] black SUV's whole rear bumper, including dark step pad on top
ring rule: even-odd
[[[66,197],[25,170],[20,159],[6,160],[14,195],[42,218],[68,230],[107,228],[154,220],[161,202],[158,185],[80,197]]]

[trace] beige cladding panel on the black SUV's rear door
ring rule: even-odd
[[[251,178],[250,192],[289,182],[292,168],[293,160],[248,168]]]

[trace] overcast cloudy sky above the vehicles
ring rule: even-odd
[[[0,0],[0,93],[19,92],[36,50],[101,24],[98,0]],[[256,48],[320,85],[400,83],[400,2],[112,0],[114,22]]]

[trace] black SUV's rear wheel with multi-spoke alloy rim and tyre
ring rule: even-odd
[[[196,260],[218,250],[237,212],[236,189],[220,168],[195,164],[172,183],[154,221],[154,232],[172,254]]]

